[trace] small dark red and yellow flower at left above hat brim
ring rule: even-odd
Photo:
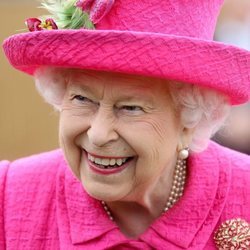
[[[41,31],[41,30],[56,30],[58,29],[55,21],[52,18],[48,18],[45,21],[41,21],[38,18],[28,18],[25,22],[29,31]]]

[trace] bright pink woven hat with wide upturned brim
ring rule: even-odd
[[[45,21],[33,27],[37,31],[4,42],[15,68],[29,74],[45,65],[137,74],[213,88],[232,104],[249,100],[250,52],[212,41],[222,0],[73,1],[89,18],[81,28],[56,29],[47,19],[53,30],[42,28]]]

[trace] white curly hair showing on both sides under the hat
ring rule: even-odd
[[[38,92],[58,111],[61,109],[67,82],[74,71],[75,69],[41,67],[35,72]],[[195,128],[189,145],[190,150],[203,151],[230,112],[231,105],[228,98],[215,90],[194,84],[175,81],[167,83],[173,102],[180,112],[182,125],[186,128]]]

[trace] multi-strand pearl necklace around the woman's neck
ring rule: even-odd
[[[170,195],[168,197],[168,200],[166,202],[166,205],[162,213],[167,212],[183,195],[185,180],[186,180],[186,160],[178,159],[175,166],[174,179]],[[107,204],[105,203],[105,201],[101,201],[101,203],[109,219],[113,221],[114,217],[112,216]]]

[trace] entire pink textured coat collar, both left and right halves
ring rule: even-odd
[[[210,143],[207,150],[189,158],[183,197],[139,237],[140,241],[153,248],[159,246],[159,241],[164,246],[174,244],[182,248],[199,242],[199,249],[203,248],[219,220],[230,185],[230,163],[220,151],[220,146]],[[66,163],[62,165],[58,210],[67,215],[72,243],[88,242],[107,234],[114,239],[110,241],[113,245],[129,241],[109,220],[101,203],[84,191]]]

